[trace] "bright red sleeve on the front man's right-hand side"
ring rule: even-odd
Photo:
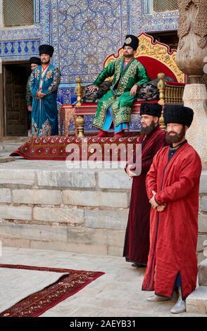
[[[192,191],[201,175],[201,158],[194,152],[190,156],[185,156],[180,164],[179,180],[172,185],[165,187],[156,194],[158,204],[168,204],[168,202],[183,199]]]

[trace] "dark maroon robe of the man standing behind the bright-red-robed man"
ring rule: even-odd
[[[123,256],[126,261],[147,263],[149,254],[149,214],[151,204],[146,194],[146,173],[149,171],[153,156],[165,146],[165,132],[156,127],[150,135],[140,136],[142,144],[142,173],[133,177],[130,211],[125,234]]]

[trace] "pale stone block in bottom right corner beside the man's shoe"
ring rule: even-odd
[[[207,315],[207,286],[195,289],[186,299],[187,313],[199,313]]]

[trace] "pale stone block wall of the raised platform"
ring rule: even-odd
[[[123,169],[72,168],[65,161],[0,163],[4,246],[122,256],[130,204]],[[68,168],[67,168],[68,167]],[[207,239],[207,171],[200,188],[199,261]]]

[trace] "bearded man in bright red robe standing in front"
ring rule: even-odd
[[[171,145],[158,151],[146,176],[152,208],[142,289],[154,290],[147,300],[158,302],[171,299],[177,287],[179,296],[171,313],[186,311],[185,299],[196,288],[201,159],[185,138],[193,115],[184,106],[164,108],[166,140]]]

